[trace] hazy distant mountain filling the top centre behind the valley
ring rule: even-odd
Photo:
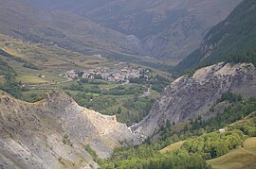
[[[27,0],[88,17],[143,43],[144,54],[183,59],[242,0]]]

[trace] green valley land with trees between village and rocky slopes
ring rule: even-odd
[[[158,94],[170,84],[169,79],[151,69],[142,69],[141,72],[129,82],[79,78],[77,82],[64,84],[62,89],[80,106],[116,115],[119,122],[131,126],[150,112]]]

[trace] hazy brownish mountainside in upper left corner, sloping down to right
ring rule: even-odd
[[[139,47],[118,31],[72,13],[49,11],[20,0],[0,1],[0,33],[84,54],[139,52]]]

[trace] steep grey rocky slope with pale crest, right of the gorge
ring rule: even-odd
[[[193,76],[177,78],[161,94],[155,106],[134,128],[139,137],[154,135],[167,121],[189,121],[197,115],[210,117],[210,107],[223,93],[256,95],[256,71],[253,64],[218,63],[199,69]],[[208,113],[208,114],[207,114]]]

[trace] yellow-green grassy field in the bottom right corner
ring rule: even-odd
[[[230,151],[228,154],[208,161],[214,169],[254,169],[256,168],[256,138],[248,138],[244,147]]]

